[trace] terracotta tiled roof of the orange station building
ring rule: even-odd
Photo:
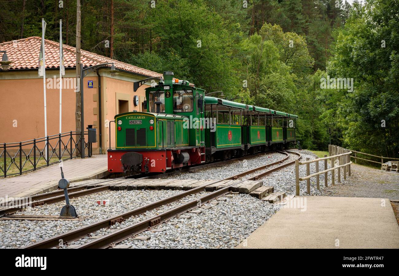
[[[59,68],[59,42],[45,39],[46,68]],[[14,41],[0,43],[0,51],[7,51],[9,60],[12,60],[12,69],[38,69],[41,37],[28,37]],[[76,48],[63,44],[64,66],[73,68],[76,66]],[[142,74],[149,77],[160,77],[162,74],[146,70],[131,64],[120,62],[88,51],[81,50],[81,62],[83,66],[114,62],[118,69]]]

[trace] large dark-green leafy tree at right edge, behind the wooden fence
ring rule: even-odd
[[[397,156],[399,3],[369,0],[354,7],[336,34],[328,66],[330,76],[353,78],[355,83],[354,91],[340,91],[336,102],[343,142],[355,150]]]

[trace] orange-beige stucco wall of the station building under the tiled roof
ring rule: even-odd
[[[84,120],[85,128],[94,124],[97,128],[99,141],[99,122],[103,123],[103,153],[109,146],[109,127],[106,121],[113,121],[118,112],[118,99],[129,101],[129,111],[141,111],[144,100],[145,87],[133,92],[133,82],[145,77],[128,73],[118,74],[111,78],[106,69],[99,72],[102,85],[102,119],[99,119],[98,78],[96,72],[84,78]],[[46,70],[46,84],[58,76],[57,70]],[[75,78],[75,70],[67,70],[64,78]],[[93,88],[88,88],[87,82],[93,81]],[[148,87],[148,86],[146,86]],[[140,104],[133,105],[133,96],[140,96]],[[59,133],[59,89],[46,88],[47,97],[47,135]],[[75,130],[75,99],[76,93],[72,88],[62,91],[62,132]],[[43,78],[38,78],[37,71],[30,72],[1,72],[0,73],[0,143],[11,143],[44,137],[44,100]],[[111,124],[111,131],[115,131],[115,124]],[[111,136],[111,141],[113,140]],[[63,138],[66,144],[68,137]],[[55,142],[51,143],[55,146]],[[44,144],[38,145],[42,148]],[[99,143],[93,144],[93,152],[99,152]]]

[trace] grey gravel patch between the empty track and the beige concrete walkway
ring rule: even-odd
[[[201,210],[201,214],[188,212],[182,217],[191,218],[173,218],[158,225],[157,231],[140,233],[139,236],[150,237],[148,241],[130,238],[120,244],[150,249],[234,248],[281,208],[248,194],[234,194],[217,202],[204,204],[210,209],[194,209]]]

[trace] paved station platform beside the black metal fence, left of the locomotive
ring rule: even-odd
[[[76,158],[63,161],[64,177],[71,182],[97,179],[107,175],[107,154],[93,155],[91,158]],[[50,165],[14,177],[0,178],[0,198],[28,197],[41,192],[55,190],[61,179],[58,164]]]

